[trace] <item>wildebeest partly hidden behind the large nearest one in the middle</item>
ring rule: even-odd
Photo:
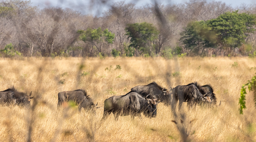
[[[171,93],[166,89],[159,86],[156,82],[152,82],[148,85],[138,85],[131,89],[131,91],[140,94],[142,97],[146,97],[148,94],[151,94],[154,98],[158,95],[159,100],[165,105],[170,105],[172,96]]]

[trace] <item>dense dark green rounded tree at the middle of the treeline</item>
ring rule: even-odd
[[[135,48],[135,56],[137,50],[140,54],[150,54],[154,48],[153,41],[158,38],[159,31],[150,23],[134,23],[127,24],[125,28],[126,35],[130,38],[130,47]]]

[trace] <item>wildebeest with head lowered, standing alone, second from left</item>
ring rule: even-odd
[[[62,105],[63,102],[73,101],[78,105],[78,110],[81,111],[82,107],[85,110],[92,110],[95,112],[96,106],[92,99],[87,95],[85,90],[74,90],[74,91],[63,91],[58,94],[58,108]]]

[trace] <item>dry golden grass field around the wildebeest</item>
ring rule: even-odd
[[[232,67],[234,62],[238,65]],[[115,69],[116,65],[121,69]],[[83,77],[83,72],[89,74]],[[27,110],[1,105],[0,141],[27,141],[30,132],[31,141],[37,142],[182,141],[180,128],[191,141],[256,141],[256,109],[251,93],[246,95],[244,114],[238,110],[240,88],[255,72],[256,59],[246,57],[1,59],[0,90],[14,85],[19,91],[32,91],[35,98]],[[211,84],[217,104],[222,104],[188,110],[184,103],[181,113],[174,117],[171,108],[160,103],[156,118],[131,120],[130,116],[120,116],[115,122],[111,114],[99,127],[106,98],[153,81],[168,89],[194,81]],[[98,102],[101,108],[96,115],[84,110],[79,113],[76,107],[57,111],[57,94],[75,89],[85,89]]]

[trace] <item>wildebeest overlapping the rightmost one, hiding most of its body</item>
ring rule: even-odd
[[[206,94],[202,94],[199,90],[200,85],[197,82],[193,82],[188,85],[178,85],[172,89],[173,99],[172,104],[173,109],[176,108],[176,104],[179,101],[178,109],[180,110],[183,102],[188,102],[188,106],[193,104],[200,104],[203,102],[211,102],[210,97]]]

